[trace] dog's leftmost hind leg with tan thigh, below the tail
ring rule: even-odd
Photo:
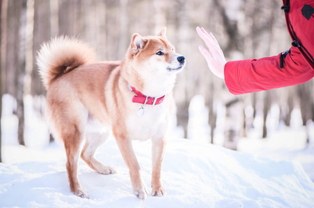
[[[56,94],[48,95],[47,107],[49,107],[49,111],[47,116],[51,121],[53,134],[56,138],[63,140],[64,143],[70,190],[81,198],[88,198],[88,193],[81,188],[77,175],[81,144],[84,141],[87,110],[79,101],[75,102],[75,97],[68,95],[68,99],[62,99],[61,96],[55,96]]]

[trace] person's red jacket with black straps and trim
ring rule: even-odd
[[[232,94],[298,85],[313,78],[314,0],[283,0],[283,5],[292,37],[290,52],[227,62],[224,76]]]

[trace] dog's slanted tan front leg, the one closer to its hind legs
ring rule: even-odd
[[[129,168],[129,176],[133,186],[134,195],[141,200],[145,200],[147,191],[141,177],[141,168],[137,162],[134,150],[132,148],[132,141],[127,137],[119,137],[116,135],[116,141],[120,148],[120,152]]]

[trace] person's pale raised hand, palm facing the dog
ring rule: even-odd
[[[204,28],[197,27],[196,31],[208,47],[208,51],[203,46],[198,46],[198,49],[205,57],[210,71],[219,78],[224,78],[226,58],[223,55],[216,38],[212,33],[208,34]]]

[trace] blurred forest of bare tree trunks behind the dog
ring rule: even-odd
[[[1,0],[1,97],[16,99],[19,144],[24,145],[24,98],[33,97],[33,109],[45,113],[45,89],[36,66],[42,42],[56,35],[74,35],[90,43],[97,60],[121,60],[133,33],[157,35],[167,27],[168,40],[185,55],[187,67],[178,75],[174,96],[177,125],[189,137],[189,104],[204,98],[214,143],[219,106],[223,106],[223,146],[236,149],[237,140],[254,128],[262,114],[261,138],[267,137],[267,114],[273,105],[278,122],[290,125],[293,109],[301,110],[303,125],[313,119],[313,80],[303,85],[234,96],[215,77],[198,45],[196,26],[211,31],[227,60],[262,58],[290,48],[281,0]],[[204,45],[204,44],[203,44]],[[1,106],[0,106],[1,110]],[[221,116],[221,115],[220,115]],[[1,132],[0,132],[1,135]],[[1,142],[0,142],[1,144]],[[1,149],[1,147],[0,147]],[[0,157],[1,161],[1,157]]]

